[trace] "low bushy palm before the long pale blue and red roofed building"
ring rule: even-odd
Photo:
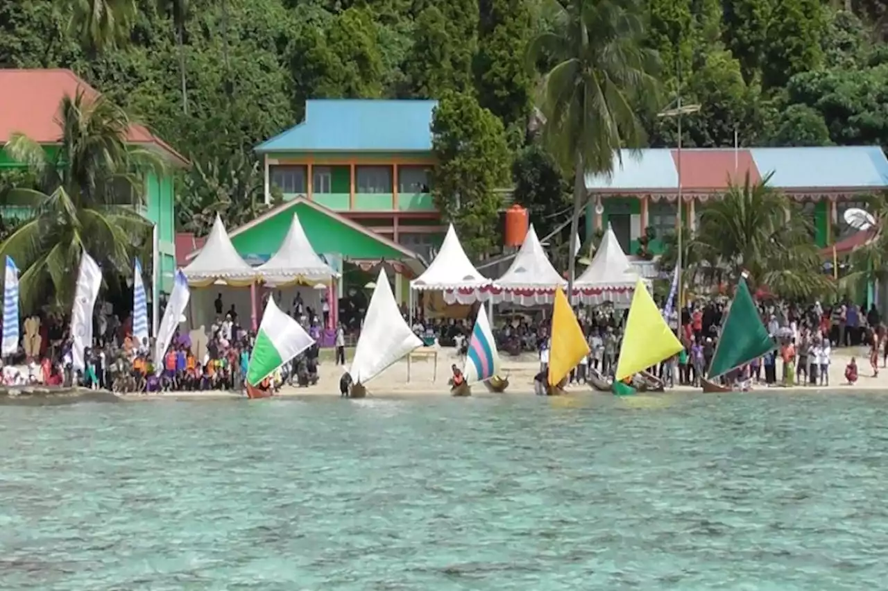
[[[706,204],[696,233],[685,241],[690,279],[733,285],[745,271],[750,285],[780,296],[831,293],[835,286],[823,273],[810,221],[767,185],[769,179],[753,183],[747,174],[742,185],[730,185],[721,199]],[[675,256],[671,242],[661,265]]]

